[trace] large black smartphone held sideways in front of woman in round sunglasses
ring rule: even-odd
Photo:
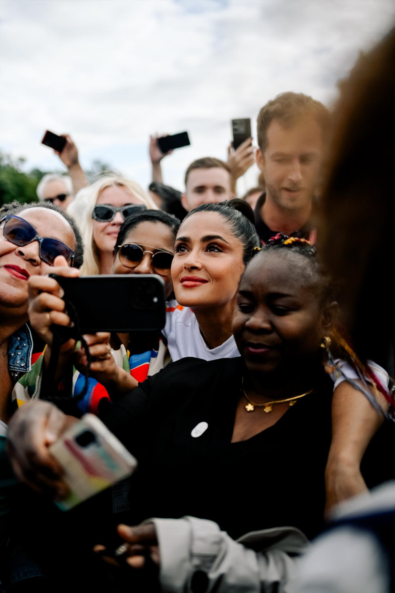
[[[164,281],[154,274],[114,274],[63,278],[66,311],[81,333],[159,331],[165,324]],[[68,330],[69,328],[66,328]],[[76,328],[69,332],[75,336]]]

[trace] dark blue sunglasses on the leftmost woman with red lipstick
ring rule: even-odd
[[[3,235],[7,241],[14,243],[18,247],[24,247],[29,243],[33,243],[33,241],[39,241],[40,260],[53,266],[55,258],[63,256],[66,262],[71,260],[71,265],[73,264],[74,251],[62,241],[50,237],[39,237],[36,229],[31,224],[14,214],[8,214],[2,218],[0,224],[4,221]]]

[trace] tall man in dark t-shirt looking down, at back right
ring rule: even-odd
[[[266,193],[255,208],[262,243],[284,232],[300,231],[316,242],[317,196],[329,113],[302,93],[282,93],[269,101],[257,119],[257,165]]]

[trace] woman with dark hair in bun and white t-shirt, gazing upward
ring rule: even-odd
[[[202,204],[177,232],[171,264],[176,301],[163,330],[171,359],[238,356],[232,315],[240,278],[259,246],[254,213],[240,199]]]

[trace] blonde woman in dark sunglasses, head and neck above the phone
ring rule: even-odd
[[[132,213],[146,208],[157,210],[152,197],[136,181],[114,174],[103,175],[78,192],[68,213],[84,237],[81,276],[111,272],[120,226]]]

